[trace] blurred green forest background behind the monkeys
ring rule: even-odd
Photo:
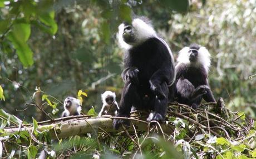
[[[190,43],[208,48],[215,98],[255,117],[256,79],[248,76],[256,74],[256,2],[204,2],[195,0],[188,7],[187,1],[0,0],[0,84],[6,98],[0,108],[26,121],[47,119],[25,105],[33,102],[36,86],[61,101],[85,90],[84,112],[91,106],[100,109],[105,90],[115,91],[119,100],[123,53],[116,31],[135,13],[152,20],[174,57]],[[34,100],[41,105],[41,94]],[[62,111],[61,104],[57,108]],[[44,109],[52,112],[49,106]]]

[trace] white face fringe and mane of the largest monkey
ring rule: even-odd
[[[136,18],[132,20],[132,27],[134,27],[135,32],[135,44],[140,44],[144,42],[146,39],[149,39],[151,37],[157,37],[156,32],[154,28],[145,23],[143,20]],[[120,24],[118,29],[119,32],[117,33],[117,39],[119,41],[119,45],[123,49],[130,49],[133,44],[127,44],[125,43],[124,39],[122,38],[122,33],[124,32],[125,24]],[[134,44],[134,45],[135,45]]]

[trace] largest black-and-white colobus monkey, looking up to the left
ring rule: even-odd
[[[152,110],[147,121],[165,118],[169,90],[175,81],[174,58],[168,44],[155,32],[149,20],[135,18],[131,24],[119,25],[117,39],[125,50],[125,82],[122,90],[120,110],[117,117],[130,117],[131,107]],[[115,119],[118,129],[128,121]]]

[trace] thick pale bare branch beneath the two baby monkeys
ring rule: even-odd
[[[62,121],[60,123],[56,124],[50,124],[50,125],[41,125],[38,126],[37,130],[38,131],[43,131],[47,130],[50,127],[51,129],[50,133],[52,136],[52,139],[62,139],[68,136],[73,136],[73,135],[83,135],[86,133],[94,133],[96,132],[104,132],[102,131],[105,130],[106,132],[119,132],[120,130],[115,130],[113,129],[112,123],[113,120],[111,119],[112,117],[94,117],[94,118],[88,118],[88,119],[73,119],[73,120],[66,120]],[[135,125],[136,131],[147,131],[148,130],[148,124],[146,122],[141,122],[140,120],[136,119],[129,119],[132,124]],[[170,126],[166,125],[161,125],[163,128],[164,132],[166,134],[171,134],[173,132],[173,129]],[[21,127],[19,130],[18,127],[12,127],[12,128],[7,128],[4,129],[5,132],[17,132],[17,131],[29,131],[31,132],[33,129],[32,126],[30,127]],[[55,133],[55,131],[56,133]],[[130,127],[127,129],[129,132],[134,132],[134,129]],[[57,136],[56,136],[57,135]]]

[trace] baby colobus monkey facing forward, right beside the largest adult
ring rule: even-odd
[[[103,102],[103,105],[98,116],[115,116],[117,114],[117,111],[119,111],[119,106],[116,102],[116,94],[112,91],[105,91],[104,94],[101,94],[101,100]]]

